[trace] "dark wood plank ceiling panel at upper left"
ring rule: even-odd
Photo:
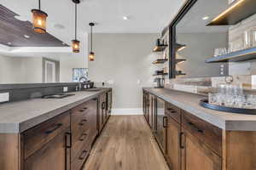
[[[32,31],[32,23],[17,20],[15,18],[17,15],[19,16],[0,4],[0,43],[3,45],[9,47],[68,47],[49,33],[38,34]]]

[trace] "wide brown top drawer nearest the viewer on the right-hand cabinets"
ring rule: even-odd
[[[218,156],[222,156],[222,130],[197,116],[182,111],[182,125],[192,135],[207,144]]]

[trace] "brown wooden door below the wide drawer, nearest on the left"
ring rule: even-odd
[[[70,149],[67,148],[69,133],[63,131],[45,144],[40,150],[29,156],[24,162],[25,170],[69,170]]]

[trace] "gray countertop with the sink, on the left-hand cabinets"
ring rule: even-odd
[[[97,92],[73,92],[64,99],[29,99],[0,105],[0,133],[22,133],[27,129],[96,98],[109,88]]]

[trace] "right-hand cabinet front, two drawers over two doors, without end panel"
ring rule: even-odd
[[[171,169],[221,170],[222,158],[210,146],[212,143],[221,144],[219,135],[222,131],[172,105],[166,105],[166,161]],[[218,150],[218,147],[212,148]]]

